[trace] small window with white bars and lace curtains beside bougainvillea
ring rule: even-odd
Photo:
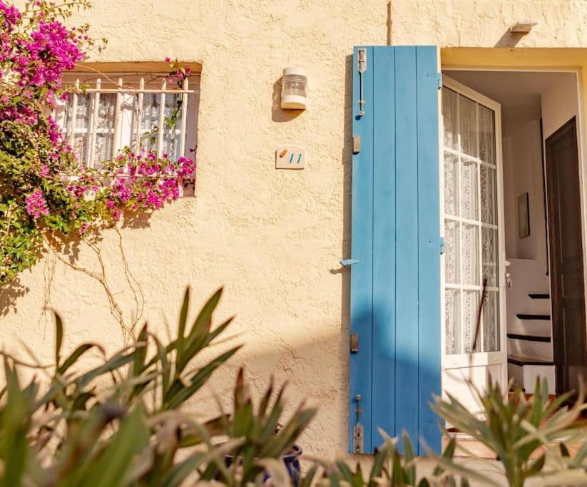
[[[76,72],[64,84],[71,93],[53,116],[80,163],[99,168],[127,147],[195,158],[199,76],[178,86],[163,74]]]

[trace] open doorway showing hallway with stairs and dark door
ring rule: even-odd
[[[477,117],[489,101],[496,103],[489,108],[501,113],[501,123],[495,120],[501,125],[495,129],[501,180],[489,189],[501,207],[501,221],[488,225],[481,217],[479,238],[481,272],[484,277],[495,273],[496,289],[499,282],[505,284],[501,308],[495,313],[499,325],[491,326],[501,329],[504,343],[498,348],[507,354],[507,376],[528,392],[537,376],[548,379],[551,394],[576,389],[578,376],[587,366],[577,75],[572,71],[452,70],[444,75],[457,82],[454,86],[456,92],[460,89],[461,105],[469,100],[476,103]],[[449,84],[446,86],[450,90]],[[450,96],[451,92],[445,98]],[[488,98],[486,103],[483,97]],[[444,118],[446,123],[446,113]],[[479,118],[474,123],[481,130]],[[461,128],[459,136],[464,133]],[[477,140],[481,144],[481,135]],[[484,168],[491,168],[491,163],[484,166],[478,154],[477,184],[487,185]],[[463,175],[459,175],[461,192]],[[483,200],[488,190],[478,190]],[[482,205],[481,201],[481,211]],[[445,217],[445,222],[450,219]],[[463,228],[470,223],[461,220]],[[445,235],[446,230],[445,225]],[[459,245],[464,247],[465,235],[460,232]],[[498,238],[499,232],[503,235]],[[484,259],[485,253],[490,255],[490,247],[495,266],[486,272]],[[498,251],[495,247],[503,248]],[[499,256],[504,257],[503,263]],[[462,259],[467,257],[461,252]],[[461,287],[466,294],[466,285]],[[483,337],[488,328],[484,324]],[[490,367],[488,362],[486,370]]]

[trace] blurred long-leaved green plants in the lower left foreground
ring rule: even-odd
[[[22,386],[24,364],[5,356],[0,485],[170,487],[217,477],[241,486],[267,469],[279,473],[282,464],[275,459],[305,429],[313,409],[300,406],[274,434],[282,420],[283,390],[273,397],[270,386],[255,408],[242,370],[230,414],[203,420],[182,407],[194,399],[196,410],[194,395],[238,351],[213,354],[231,321],[212,326],[220,294],[213,294],[188,326],[186,292],[174,339],[162,342],[145,325],[136,342],[88,369],[79,369],[82,357],[100,347],[81,344],[62,356],[58,316],[55,363],[48,370],[36,367],[47,374],[44,380]],[[245,461],[227,468],[225,454]]]

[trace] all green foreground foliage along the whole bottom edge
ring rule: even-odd
[[[275,391],[272,382],[254,404],[241,369],[231,411],[223,411],[221,401],[218,416],[207,418],[202,408],[198,411],[196,393],[239,348],[224,344],[214,352],[231,322],[213,327],[220,295],[220,290],[213,294],[188,322],[186,291],[175,338],[163,341],[145,325],[136,341],[108,358],[91,343],[64,354],[58,316],[50,367],[4,354],[0,486],[290,486],[280,457],[298,441],[314,409],[300,404],[284,419],[284,388]],[[92,351],[103,357],[97,364],[95,353],[86,360]],[[23,385],[26,368],[44,376]],[[490,385],[483,393],[474,389],[481,414],[469,412],[451,396],[438,398],[432,407],[441,419],[494,452],[510,486],[521,487],[537,477],[543,486],[587,485],[583,394],[569,407],[570,396],[551,400],[547,391],[546,382],[537,383],[534,395],[526,398],[519,390],[507,394]],[[183,407],[187,401],[195,412]],[[400,454],[397,439],[384,432],[384,444],[372,461],[363,463],[368,468],[307,458],[300,486],[464,487],[469,486],[467,479],[503,485],[484,476],[479,463],[473,470],[456,459],[456,442],[446,435],[444,453],[429,452],[426,460],[414,456],[407,435]],[[552,447],[555,440],[559,442]],[[571,456],[569,446],[576,444],[578,452]],[[226,466],[225,455],[240,461]],[[422,461],[434,463],[432,473],[419,475]],[[264,473],[270,479],[263,484]]]

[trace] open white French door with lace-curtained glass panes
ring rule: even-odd
[[[444,393],[478,411],[467,381],[507,384],[501,106],[443,76]],[[481,327],[475,330],[483,282]]]

